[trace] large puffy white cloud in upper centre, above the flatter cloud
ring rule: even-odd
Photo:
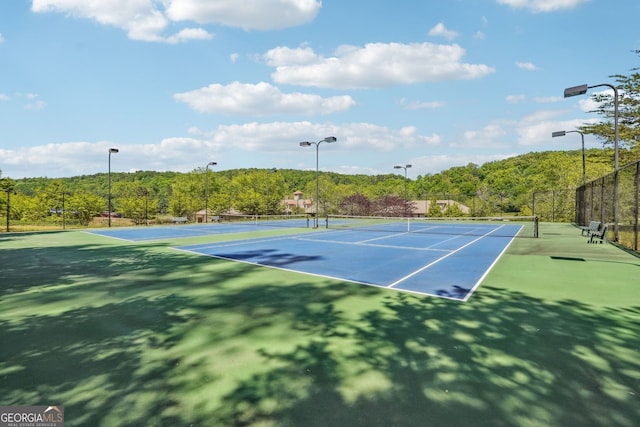
[[[328,58],[309,47],[278,47],[264,59],[276,68],[272,78],[277,83],[341,89],[477,79],[495,71],[488,65],[461,62],[464,55],[465,50],[455,44],[369,43],[341,46]]]

